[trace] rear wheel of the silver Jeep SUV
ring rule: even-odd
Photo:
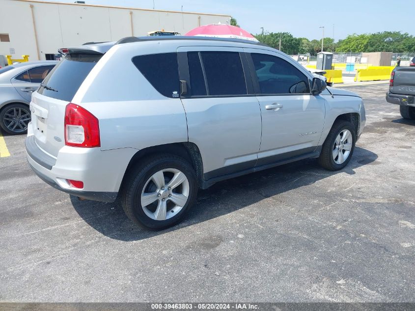
[[[178,223],[196,195],[192,165],[165,154],[147,158],[129,173],[121,190],[121,205],[134,223],[160,230]]]

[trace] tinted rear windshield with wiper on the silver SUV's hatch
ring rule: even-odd
[[[38,93],[70,102],[101,57],[102,55],[66,55],[43,81],[44,85],[54,90],[40,86]]]

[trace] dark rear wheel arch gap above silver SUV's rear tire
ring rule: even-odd
[[[203,182],[203,162],[200,150],[193,142],[176,142],[168,143],[157,146],[151,146],[138,150],[131,158],[127,169],[124,172],[123,179],[121,181],[120,189],[122,188],[126,176],[132,170],[133,167],[139,164],[140,160],[151,155],[169,153],[179,156],[187,160],[194,168],[197,177],[197,186],[200,187]]]

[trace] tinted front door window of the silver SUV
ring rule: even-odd
[[[261,94],[309,93],[307,77],[280,57],[252,53]]]

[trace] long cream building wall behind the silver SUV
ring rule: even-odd
[[[0,0],[0,16],[0,33],[10,36],[10,42],[0,42],[0,55],[13,49],[13,58],[29,55],[29,60],[90,41],[116,41],[162,29],[185,34],[201,25],[230,23],[227,15],[28,0]]]

